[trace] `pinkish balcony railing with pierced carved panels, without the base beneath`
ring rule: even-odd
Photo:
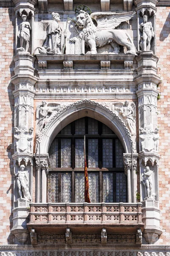
[[[30,224],[48,223],[132,223],[142,224],[142,204],[30,204]]]

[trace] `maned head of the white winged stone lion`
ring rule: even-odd
[[[96,27],[90,17],[90,15],[80,10],[76,16],[76,31],[80,38],[85,40],[85,35],[95,34]]]

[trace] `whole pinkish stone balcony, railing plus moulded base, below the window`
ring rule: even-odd
[[[143,230],[142,204],[128,203],[31,203],[30,221],[39,232],[63,232],[66,227],[79,232],[136,232]]]

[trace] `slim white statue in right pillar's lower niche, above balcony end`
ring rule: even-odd
[[[144,169],[142,178],[143,178],[143,184],[145,186],[146,197],[151,198],[153,180],[152,180],[152,170],[150,170],[149,166],[146,166],[146,168]]]

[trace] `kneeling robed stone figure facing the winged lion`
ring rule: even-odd
[[[37,47],[35,54],[64,54],[66,35],[59,26],[60,18],[58,13],[52,12],[53,21],[47,27],[47,37],[42,47]]]

